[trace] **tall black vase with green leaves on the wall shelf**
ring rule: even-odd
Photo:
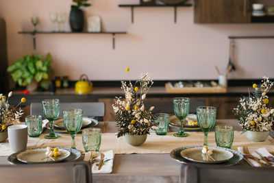
[[[88,7],[90,3],[89,0],[73,0],[74,3],[71,5],[71,13],[69,15],[69,24],[71,25],[72,32],[82,32],[84,27],[84,14],[80,9],[82,6]]]

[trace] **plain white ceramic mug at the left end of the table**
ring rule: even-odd
[[[25,150],[27,147],[27,125],[9,126],[8,140],[12,151]]]

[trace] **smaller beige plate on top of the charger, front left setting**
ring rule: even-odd
[[[34,149],[26,149],[24,151],[21,151],[19,154],[16,155],[17,160],[25,163],[45,163],[45,162],[59,162],[64,160],[65,158],[68,158],[71,155],[71,152],[66,149],[61,149],[60,147],[57,147],[59,151],[61,152],[60,156],[46,158],[46,151],[47,147],[41,147],[41,148],[34,148]]]

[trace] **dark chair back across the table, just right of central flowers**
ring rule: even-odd
[[[155,107],[154,112],[164,112],[168,114],[174,114],[173,110],[173,100],[145,100],[145,107],[149,108],[150,106]],[[190,109],[189,113],[196,113],[196,108],[199,106],[205,106],[205,99],[190,99]]]

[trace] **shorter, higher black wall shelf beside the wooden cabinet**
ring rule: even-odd
[[[142,7],[142,8],[152,8],[152,7],[174,7],[174,23],[177,22],[177,7],[190,7],[192,4],[184,3],[179,5],[129,5],[129,4],[123,4],[119,5],[121,8],[128,8],[130,7],[132,9],[132,23],[134,23],[134,7]]]

